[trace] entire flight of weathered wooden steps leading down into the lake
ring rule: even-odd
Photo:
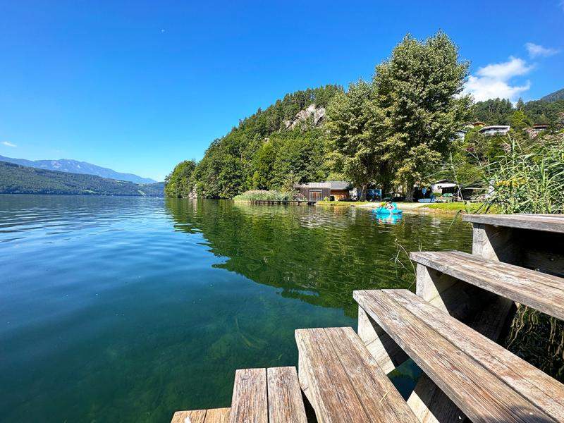
[[[414,252],[416,293],[357,290],[358,333],[298,329],[294,367],[235,374],[231,409],[172,422],[564,422],[564,385],[498,345],[515,302],[564,319],[564,216],[469,215],[472,254]],[[424,374],[404,400],[387,374]]]

